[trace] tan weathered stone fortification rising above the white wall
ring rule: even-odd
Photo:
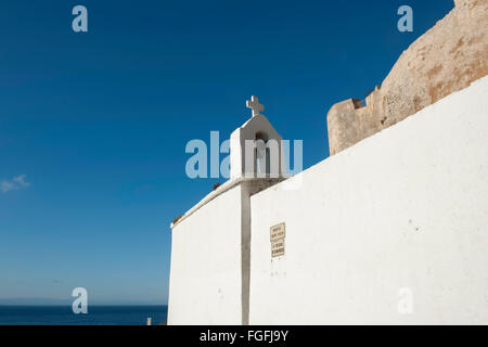
[[[406,50],[365,106],[349,99],[328,113],[331,155],[488,75],[488,0],[455,8]]]

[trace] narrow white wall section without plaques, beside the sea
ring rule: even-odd
[[[168,324],[241,324],[241,189],[172,229]]]

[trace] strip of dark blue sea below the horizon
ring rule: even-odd
[[[0,325],[146,325],[163,324],[167,306],[88,306],[87,313],[75,314],[70,305],[0,305]]]

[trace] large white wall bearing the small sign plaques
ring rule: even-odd
[[[485,77],[301,172],[300,189],[252,196],[249,322],[488,324],[487,95]]]

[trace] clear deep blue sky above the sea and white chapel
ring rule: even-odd
[[[88,33],[72,30],[77,4]],[[397,30],[402,4],[413,33]],[[380,85],[452,8],[0,2],[0,298],[84,286],[93,301],[166,304],[169,223],[219,181],[187,177],[187,142],[228,138],[256,94],[284,139],[304,140],[305,168],[326,158],[329,108]]]

